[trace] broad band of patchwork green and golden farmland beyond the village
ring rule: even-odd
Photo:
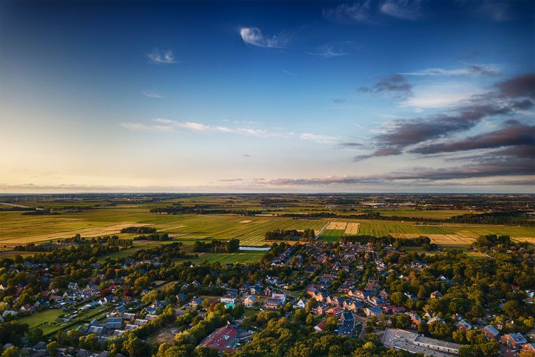
[[[44,243],[70,238],[75,234],[84,237],[117,234],[121,238],[132,238],[136,234],[121,234],[121,228],[130,226],[155,227],[160,233],[167,233],[173,241],[186,245],[203,239],[240,239],[241,245],[265,246],[272,242],[265,241],[266,231],[274,229],[314,229],[320,234],[320,241],[338,241],[343,235],[368,235],[412,238],[426,235],[433,243],[444,246],[462,247],[469,245],[481,234],[507,234],[516,241],[535,244],[535,228],[514,225],[476,225],[445,224],[442,222],[414,222],[401,220],[343,219],[329,218],[292,218],[281,217],[287,212],[328,211],[325,206],[316,203],[313,198],[293,199],[291,204],[279,204],[269,211],[262,206],[258,197],[185,197],[159,202],[137,203],[118,200],[109,202],[72,202],[82,211],[60,211],[58,215],[22,215],[17,211],[0,211],[0,247],[10,249],[15,245],[26,243]],[[71,203],[70,203],[71,204]],[[264,203],[265,204],[265,203]],[[220,214],[155,214],[150,208],[202,207],[224,209],[228,213]],[[40,206],[29,203],[29,206]],[[45,208],[61,208],[58,202],[45,202]],[[338,208],[334,208],[338,209]],[[254,210],[255,215],[240,215],[238,212]],[[236,211],[236,213],[232,213]],[[446,218],[451,215],[467,213],[462,210],[418,211],[411,208],[379,210],[382,215],[410,215],[427,218]],[[471,211],[476,212],[476,211]],[[323,231],[321,229],[325,227]],[[118,252],[120,255],[131,254],[144,246],[161,244],[160,242],[139,242],[134,248]],[[10,254],[4,252],[3,254]]]

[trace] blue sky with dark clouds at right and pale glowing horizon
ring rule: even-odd
[[[0,1],[0,192],[535,192],[534,1]]]

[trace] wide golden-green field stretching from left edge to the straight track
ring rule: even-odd
[[[249,222],[245,222],[249,221]],[[0,212],[0,246],[39,243],[61,238],[119,234],[130,225],[151,225],[185,243],[205,238],[238,238],[242,245],[265,245],[264,234],[272,229],[315,229],[325,222],[293,218],[250,217],[238,215],[157,215],[148,208],[93,208],[81,213],[60,215],[21,215]]]

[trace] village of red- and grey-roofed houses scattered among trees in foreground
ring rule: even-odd
[[[361,340],[373,336],[388,349],[420,356],[467,356],[463,349],[474,346],[492,351],[481,356],[520,356],[535,349],[533,315],[522,316],[519,310],[513,320],[489,308],[467,308],[463,306],[466,301],[457,301],[457,306],[448,292],[460,283],[456,276],[460,272],[440,273],[438,262],[403,247],[371,241],[280,243],[263,264],[184,262],[174,264],[184,278],[149,278],[154,272],[160,278],[169,274],[169,256],[177,251],[180,244],[174,243],[164,251],[146,250],[104,262],[3,259],[0,275],[7,283],[0,284],[2,326],[59,312],[53,321],[42,321],[17,336],[20,349],[15,340],[6,342],[4,337],[3,351],[17,348],[17,353],[27,356],[121,357],[130,340],[144,344],[148,351],[149,344],[164,341],[155,340],[155,335],[169,335],[165,343],[187,340],[194,350],[235,354],[263,331],[266,321],[277,318],[308,326],[312,333]],[[510,245],[507,251],[534,259],[532,248]],[[95,275],[69,279],[76,276],[75,267],[82,268],[80,264]],[[38,291],[39,287],[50,289]],[[502,288],[524,296],[525,306],[532,308],[532,290],[515,284]],[[440,307],[442,301],[450,303]],[[518,301],[513,303],[520,309]],[[513,314],[507,310],[513,303],[502,299],[497,312]],[[206,325],[197,333],[196,326],[203,322]],[[45,336],[45,331],[55,333]],[[99,351],[102,347],[109,348]]]

